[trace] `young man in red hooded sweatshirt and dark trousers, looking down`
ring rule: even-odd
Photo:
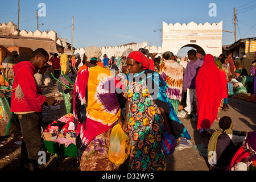
[[[11,112],[18,115],[22,131],[21,167],[25,169],[29,165],[31,171],[43,169],[43,164],[38,164],[38,152],[42,150],[42,105],[44,102],[49,105],[55,102],[52,97],[43,96],[42,88],[34,77],[39,69],[46,66],[48,59],[46,50],[39,48],[34,51],[30,61],[21,61],[13,67],[15,76]]]

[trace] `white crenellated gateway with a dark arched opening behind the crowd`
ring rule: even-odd
[[[219,56],[222,53],[222,21],[220,23],[167,24],[162,27],[162,51],[174,55],[183,47],[201,47],[205,53]]]

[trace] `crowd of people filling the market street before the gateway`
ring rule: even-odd
[[[22,159],[23,163],[30,164],[30,169],[42,168],[36,163],[36,152],[40,148],[40,129],[36,128],[42,122],[42,105],[56,102],[54,98],[42,95],[42,89],[33,77],[47,62],[51,62],[49,65],[53,75],[59,80],[64,81],[63,77],[70,72],[76,75],[73,115],[81,170],[119,168],[108,159],[109,135],[116,123],[130,137],[131,154],[127,169],[165,170],[166,156],[161,150],[165,129],[177,142],[181,137],[191,139],[177,117],[179,111],[187,112],[186,117],[190,119],[194,113],[200,135],[204,137],[210,134],[209,129],[218,111],[228,109],[229,91],[233,91],[241,77],[255,77],[256,68],[256,63],[249,63],[245,56],[242,60],[236,57],[233,61],[232,53],[214,57],[204,54],[200,49],[189,50],[188,57],[183,56],[181,59],[171,51],[155,57],[155,54],[144,48],[135,51],[127,49],[122,56],[110,59],[95,46],[87,47],[84,55],[81,55],[82,59],[80,56],[68,56],[63,47],[59,47],[58,51],[61,53],[60,59],[56,54],[51,57],[44,49],[37,49],[30,61],[22,61],[14,66],[11,111],[19,115],[24,141]],[[24,71],[28,73],[26,77],[16,76]],[[229,90],[229,84],[232,90]],[[22,101],[15,98],[17,86],[26,90],[23,91],[23,98],[20,98]],[[61,86],[58,83],[59,93],[56,96],[61,96]],[[256,88],[251,92],[255,94]],[[182,101],[185,101],[184,109],[181,107]],[[225,127],[221,125],[222,120],[228,122],[223,124]],[[217,155],[217,160],[214,158],[214,162],[209,160],[209,163],[216,164],[218,161],[220,168],[224,168],[230,164],[236,152],[233,147],[232,152],[227,153],[231,150],[229,148],[222,155],[225,148],[220,149],[221,144],[217,141],[221,137],[225,138],[224,134],[232,134],[232,121],[229,118],[221,118],[221,121],[221,133],[214,133],[214,139],[209,143],[210,152],[221,150],[221,154]],[[250,135],[251,159],[256,154],[253,137],[254,133]],[[233,141],[232,137],[228,138],[226,146],[229,146],[230,138]],[[244,140],[245,137],[240,138],[239,142]],[[236,146],[237,143],[233,141],[232,144]],[[231,158],[224,157],[226,155]],[[27,156],[28,161],[25,160]],[[212,159],[212,155],[209,158]],[[225,158],[225,162],[219,158]],[[250,158],[247,157],[247,163],[251,162]],[[229,159],[228,162],[226,159]],[[234,165],[230,169],[234,169]]]

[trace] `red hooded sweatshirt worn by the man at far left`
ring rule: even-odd
[[[36,111],[42,112],[42,105],[46,97],[42,94],[40,86],[36,85],[34,78],[38,70],[30,61],[21,61],[14,65],[13,93],[11,95],[11,112]],[[20,85],[24,98],[17,100],[15,98],[15,88]]]

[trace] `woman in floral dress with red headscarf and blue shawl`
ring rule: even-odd
[[[166,157],[161,151],[163,126],[176,138],[191,137],[166,96],[166,82],[148,69],[147,57],[139,51],[131,52],[127,68],[129,84],[124,129],[129,131],[131,140],[129,169],[163,171],[166,169]]]

